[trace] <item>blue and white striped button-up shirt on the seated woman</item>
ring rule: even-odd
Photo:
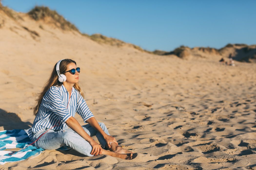
[[[86,122],[86,120],[94,117],[88,108],[86,101],[77,89],[72,87],[71,95],[65,86],[51,86],[45,93],[38,113],[32,126],[32,132],[36,133],[43,128],[51,128],[52,130],[66,130],[68,128],[65,123],[71,116],[78,113]],[[59,123],[60,124],[59,124]],[[58,126],[59,125],[59,126]],[[27,129],[29,137],[31,129]]]

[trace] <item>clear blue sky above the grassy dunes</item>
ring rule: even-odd
[[[48,6],[82,33],[100,33],[150,51],[172,51],[180,45],[256,44],[255,0],[2,0],[2,4],[19,12]]]

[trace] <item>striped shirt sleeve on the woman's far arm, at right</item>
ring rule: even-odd
[[[84,122],[94,117],[81,94],[78,96],[76,112],[83,118]]]

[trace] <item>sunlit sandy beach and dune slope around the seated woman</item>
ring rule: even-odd
[[[256,169],[255,64],[157,56],[98,44],[25,14],[24,21],[0,16],[0,130],[31,127],[37,93],[54,64],[71,58],[96,119],[138,153],[122,160],[45,150],[0,169]]]

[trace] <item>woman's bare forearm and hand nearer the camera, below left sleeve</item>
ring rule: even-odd
[[[97,122],[98,123],[98,122]],[[91,151],[91,155],[99,155],[102,153],[102,148],[101,146],[95,142],[92,137],[90,137],[90,135],[88,135],[84,129],[81,127],[81,125],[79,124],[79,122],[74,118],[74,117],[70,117],[67,121],[66,124],[68,125],[68,127],[70,127],[72,130],[74,130],[78,135],[80,135],[82,138],[84,138],[86,141],[88,141],[90,143],[90,145],[92,146],[92,151]],[[98,124],[99,125],[99,124]],[[101,129],[102,130],[102,129]],[[104,131],[103,131],[104,132]]]

